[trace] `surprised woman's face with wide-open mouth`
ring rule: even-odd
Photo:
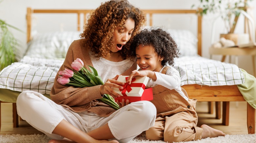
[[[121,50],[123,45],[125,45],[131,39],[135,27],[134,20],[131,18],[127,19],[123,26],[124,29],[121,30],[121,33],[118,32],[121,27],[117,27],[114,30],[114,46],[111,48],[111,52]]]

